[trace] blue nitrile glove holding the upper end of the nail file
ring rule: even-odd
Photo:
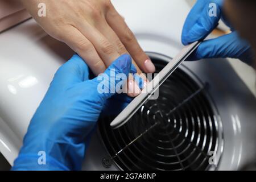
[[[216,16],[209,16],[209,11],[212,10],[212,6],[209,7],[210,3],[217,5]],[[223,15],[222,6],[222,0],[198,0],[185,20],[181,36],[182,43],[187,45],[204,39],[218,26],[220,19],[229,26]],[[232,57],[241,59],[250,65],[253,63],[253,53],[249,43],[241,39],[236,31],[216,39],[205,40],[188,60],[213,57]]]

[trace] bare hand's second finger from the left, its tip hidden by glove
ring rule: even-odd
[[[93,44],[106,67],[109,67],[113,60],[116,60],[120,56],[114,45],[90,23],[83,20],[82,23],[79,22],[77,24],[77,28]]]

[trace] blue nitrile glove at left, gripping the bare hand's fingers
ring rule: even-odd
[[[131,58],[123,55],[110,65],[105,75],[115,80],[118,73],[127,77],[130,71]],[[114,108],[115,104],[121,111],[131,100],[126,94],[112,97],[113,86],[118,82],[120,80],[110,81],[105,87],[109,93],[99,93],[98,86],[102,86],[102,82],[97,77],[89,80],[88,66],[81,57],[74,55],[56,72],[31,120],[13,170],[81,169],[90,134],[101,111],[110,105]]]

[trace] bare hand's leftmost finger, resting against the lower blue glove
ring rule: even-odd
[[[61,38],[69,47],[76,51],[86,64],[92,69],[94,75],[103,73],[106,69],[104,62],[98,55],[93,44],[81,34],[77,28],[70,26],[63,30],[63,37]]]

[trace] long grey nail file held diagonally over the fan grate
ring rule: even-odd
[[[155,93],[155,91],[159,88],[160,85],[163,84],[166,79],[171,76],[171,74],[179,67],[179,65],[187,59],[189,55],[195,49],[199,46],[200,42],[194,42],[192,44],[189,44],[188,46],[185,46],[180,53],[174,57],[158,73],[158,76],[156,76],[151,82],[149,82],[146,86],[146,91],[143,89],[142,93],[139,94],[139,96],[135,97],[133,101],[110,123],[110,126],[113,129],[118,129],[118,127],[124,125],[129,119],[137,112],[139,108],[152,96],[152,94]]]

